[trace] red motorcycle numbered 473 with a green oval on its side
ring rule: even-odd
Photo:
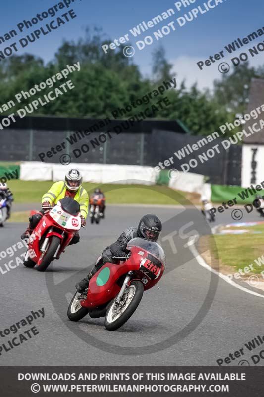
[[[132,316],[143,292],[158,283],[166,266],[158,243],[134,238],[126,249],[130,251],[126,257],[114,257],[118,264],[106,263],[84,293],[75,293],[67,313],[71,321],[89,313],[92,318],[105,317],[106,330],[115,331]]]

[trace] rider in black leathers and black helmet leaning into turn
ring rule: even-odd
[[[127,255],[125,248],[128,242],[135,238],[141,237],[147,239],[149,241],[157,241],[158,237],[162,230],[162,223],[158,216],[154,214],[144,215],[140,221],[138,227],[129,227],[125,229],[121,235],[118,237],[116,242],[106,247],[102,252],[102,256],[98,263],[93,267],[91,272],[85,277],[83,280],[76,284],[76,289],[78,292],[83,292],[86,288],[88,288],[89,281],[92,276],[101,269],[106,262],[116,263],[116,260],[113,258],[116,257],[124,257]]]

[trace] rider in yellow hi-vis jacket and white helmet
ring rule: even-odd
[[[56,204],[60,199],[64,197],[71,197],[80,204],[82,226],[86,225],[86,217],[88,215],[88,193],[82,187],[82,174],[79,170],[73,169],[66,173],[64,181],[53,183],[51,188],[42,197],[42,209],[35,215],[30,216],[29,226],[27,230],[21,235],[21,239],[28,238],[35,227],[42,219],[44,213],[53,204]],[[75,236],[71,240],[70,244],[76,244],[80,241],[79,232],[75,232]]]

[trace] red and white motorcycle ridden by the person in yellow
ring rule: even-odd
[[[24,259],[24,266],[37,265],[38,271],[45,271],[53,259],[59,259],[82,224],[80,205],[74,199],[65,197],[47,209],[29,237]]]

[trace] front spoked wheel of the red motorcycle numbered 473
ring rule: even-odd
[[[132,316],[138,307],[144,292],[141,281],[132,281],[126,288],[120,304],[115,300],[109,305],[105,317],[105,327],[108,331],[115,331],[120,328]]]

